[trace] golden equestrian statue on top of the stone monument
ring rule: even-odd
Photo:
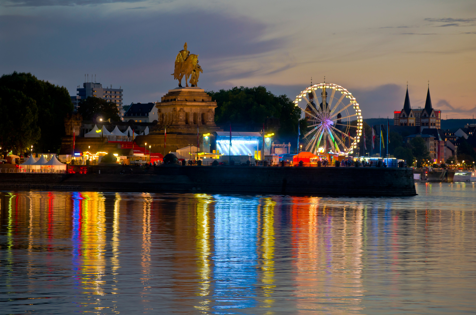
[[[175,58],[174,79],[178,80],[178,86],[182,87],[182,78],[185,76],[185,86],[188,87],[188,78],[192,87],[196,87],[200,72],[203,73],[202,67],[198,64],[198,55],[190,54],[187,50],[187,43],[183,45],[183,50],[178,52]]]

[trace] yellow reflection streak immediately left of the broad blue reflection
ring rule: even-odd
[[[197,199],[197,266],[198,266],[198,295],[210,295],[210,209],[212,198],[206,194],[196,194]],[[199,301],[195,308],[201,310],[201,314],[208,314],[210,300],[204,298]]]

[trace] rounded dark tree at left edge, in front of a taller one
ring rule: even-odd
[[[0,87],[1,154],[24,152],[40,138],[38,108],[34,99],[20,91]]]

